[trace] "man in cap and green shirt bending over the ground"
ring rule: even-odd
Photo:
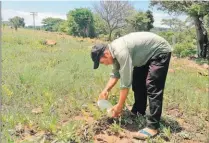
[[[145,115],[148,97],[150,113],[147,115],[147,127],[137,132],[136,138],[154,137],[159,132],[171,51],[165,39],[150,32],[130,33],[108,45],[97,44],[91,50],[94,69],[99,67],[99,63],[113,65],[111,77],[99,98],[107,99],[108,92],[120,79],[120,97],[112,108],[113,117],[121,114],[131,85],[135,98],[132,113]]]

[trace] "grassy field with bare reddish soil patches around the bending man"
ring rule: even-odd
[[[43,40],[57,41],[55,46]],[[97,105],[111,67],[93,70],[90,48],[98,40],[5,27],[2,36],[2,142],[142,142],[131,134],[144,117],[128,109],[109,119]],[[117,85],[110,93],[114,104]],[[127,99],[133,104],[133,93]],[[145,142],[208,141],[208,72],[188,59],[172,57],[167,77],[161,133]]]

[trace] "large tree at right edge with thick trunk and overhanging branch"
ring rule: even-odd
[[[169,13],[184,13],[191,16],[196,28],[198,56],[202,58],[209,56],[207,30],[204,28],[202,20],[209,13],[208,1],[151,1],[151,6],[156,6],[159,10]]]

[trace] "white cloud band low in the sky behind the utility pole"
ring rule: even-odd
[[[16,11],[12,9],[2,9],[2,18],[3,21],[8,21],[9,18],[12,18],[14,16],[19,16],[24,18],[25,24],[27,25],[33,25],[33,16],[30,14],[30,12],[25,11]],[[35,17],[35,23],[36,25],[42,25],[41,22],[44,18],[47,17],[53,17],[53,18],[61,18],[61,19],[67,19],[67,16],[64,14],[58,14],[58,13],[38,13]]]

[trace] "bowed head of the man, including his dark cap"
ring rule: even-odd
[[[99,63],[104,65],[113,64],[113,57],[105,44],[96,44],[92,47],[91,58],[94,62],[94,69],[99,67]]]

